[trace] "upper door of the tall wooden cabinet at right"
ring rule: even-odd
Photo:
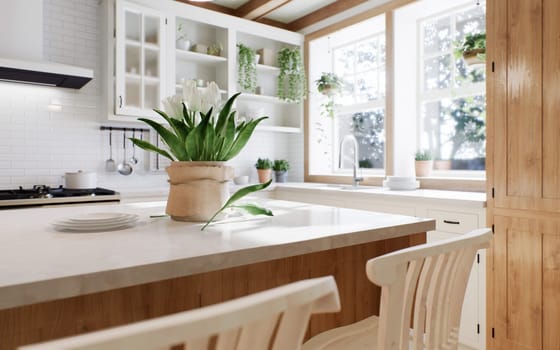
[[[491,1],[487,14],[495,206],[558,212],[560,2]]]

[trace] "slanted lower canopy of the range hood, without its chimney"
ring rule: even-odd
[[[81,89],[93,70],[66,64],[0,58],[0,81]]]

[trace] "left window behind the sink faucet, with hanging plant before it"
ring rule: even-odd
[[[310,147],[315,155],[317,173],[347,172],[353,159],[352,151],[342,150],[339,162],[339,142],[345,135],[358,141],[358,161],[362,169],[384,168],[385,158],[385,25],[380,16],[351,26],[312,43],[310,57],[322,57],[310,66],[313,80],[322,73],[334,73],[342,81],[342,89],[334,97],[312,93],[310,105],[325,108],[334,102],[332,117],[324,111],[310,114],[315,127]],[[325,56],[328,60],[325,60]],[[312,84],[312,89],[315,85]],[[332,100],[331,100],[332,98]],[[348,159],[349,161],[346,161]],[[319,164],[321,162],[321,164]]]

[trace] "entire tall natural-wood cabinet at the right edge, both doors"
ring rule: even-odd
[[[560,2],[487,2],[488,349],[560,349]]]

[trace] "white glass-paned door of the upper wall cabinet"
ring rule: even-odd
[[[115,114],[154,116],[165,87],[165,18],[126,1],[117,1],[116,18]]]

